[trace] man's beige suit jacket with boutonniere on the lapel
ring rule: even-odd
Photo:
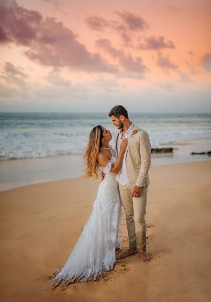
[[[133,130],[138,131],[133,134]],[[117,139],[121,129],[117,129],[115,132],[115,150],[117,153]],[[149,135],[143,129],[133,126],[128,139],[128,145],[126,149],[126,169],[128,179],[132,186],[138,184],[142,187],[150,184],[148,171],[151,165],[151,144]]]

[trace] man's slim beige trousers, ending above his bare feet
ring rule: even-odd
[[[143,187],[139,197],[131,197],[133,186],[119,183],[120,196],[126,213],[130,249],[146,252],[147,227],[145,221],[148,186]]]

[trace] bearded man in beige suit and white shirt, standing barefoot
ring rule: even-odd
[[[123,164],[116,178],[126,213],[130,245],[121,258],[139,253],[142,261],[149,261],[150,257],[146,254],[145,222],[147,190],[150,184],[148,171],[151,165],[149,135],[129,120],[127,110],[121,105],[112,108],[109,116],[113,125],[117,127],[115,132],[117,156],[122,140],[128,138]]]

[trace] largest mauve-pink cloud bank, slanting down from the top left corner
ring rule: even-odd
[[[89,52],[77,41],[77,34],[55,18],[20,7],[15,1],[1,4],[0,26],[4,43],[28,46],[25,54],[42,65],[85,70],[117,72],[117,66],[106,62],[99,53]],[[5,35],[5,37],[4,37]]]

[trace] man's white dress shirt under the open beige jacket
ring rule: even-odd
[[[125,138],[129,138],[130,136],[130,133],[133,129],[133,126],[134,124],[132,123],[130,125],[130,127],[128,128],[128,130],[126,131],[125,133]],[[122,130],[120,130],[120,133],[119,133],[119,136],[118,136],[118,139],[117,139],[117,154],[119,155],[119,152],[120,152],[120,145],[121,145],[121,142],[123,141],[122,139]],[[127,168],[126,168],[126,152],[124,153],[124,157],[123,157],[123,164],[122,164],[122,167],[116,177],[116,180],[121,184],[121,185],[125,185],[125,186],[130,186],[130,182],[129,182],[129,179],[128,179],[128,174],[127,174]],[[137,184],[136,184],[137,185]],[[137,185],[138,186],[138,185]],[[140,187],[140,186],[139,186]]]

